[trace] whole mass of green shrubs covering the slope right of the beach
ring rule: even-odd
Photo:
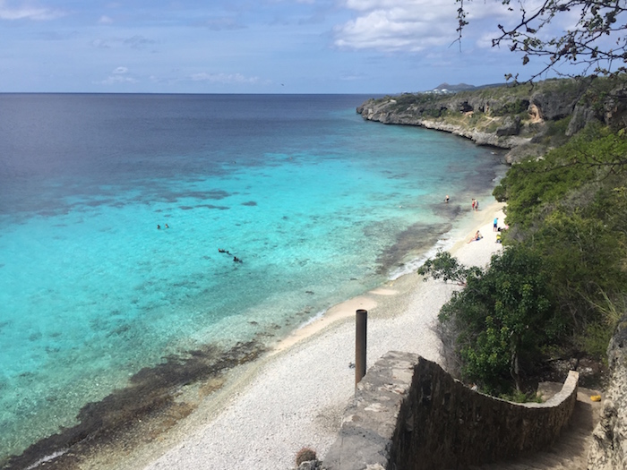
[[[465,286],[440,313],[463,380],[509,393],[555,358],[603,359],[627,305],[626,126],[591,122],[511,167],[494,189],[511,228],[489,268],[441,252],[419,269]]]

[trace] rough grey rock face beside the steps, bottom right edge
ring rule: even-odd
[[[588,454],[588,469],[627,468],[627,316],[607,348],[610,384]]]

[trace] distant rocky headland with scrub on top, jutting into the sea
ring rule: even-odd
[[[590,90],[591,81],[545,81],[446,96],[369,99],[356,111],[368,121],[417,125],[451,132],[479,145],[513,150],[507,157],[511,163],[549,150],[556,127],[572,135],[593,120],[606,124],[627,120],[624,87],[608,94],[612,98],[604,97],[602,103]],[[560,122],[567,125],[560,126]]]

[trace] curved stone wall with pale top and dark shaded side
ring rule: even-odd
[[[438,470],[516,457],[549,446],[569,422],[577,372],[543,404],[513,404],[468,389],[436,363],[390,352],[349,404],[328,470]]]

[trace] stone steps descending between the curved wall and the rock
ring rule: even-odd
[[[551,390],[547,393],[550,394]],[[597,390],[579,388],[571,423],[550,449],[511,462],[470,466],[468,470],[587,470],[588,449],[602,403],[593,402],[590,397],[599,394]]]

